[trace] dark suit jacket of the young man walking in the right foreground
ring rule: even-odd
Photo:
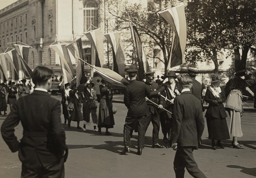
[[[198,146],[204,131],[201,103],[191,91],[185,91],[174,99],[171,141],[178,146]]]

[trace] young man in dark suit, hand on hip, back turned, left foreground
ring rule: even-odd
[[[51,69],[43,66],[34,69],[35,90],[19,98],[1,126],[2,137],[11,152],[19,151],[22,178],[64,178],[68,150],[60,102],[47,93],[52,86],[52,74]],[[23,127],[21,140],[14,134],[19,122]]]

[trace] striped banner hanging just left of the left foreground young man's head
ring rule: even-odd
[[[20,58],[20,63],[22,65],[21,69],[23,71],[24,76],[22,76],[23,79],[29,79],[32,78],[32,70],[28,66],[28,52],[29,52],[29,46],[24,45],[13,45],[17,52],[17,56]]]

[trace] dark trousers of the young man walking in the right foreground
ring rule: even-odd
[[[176,178],[184,178],[185,167],[191,176],[195,178],[206,178],[197,167],[197,163],[193,157],[193,148],[178,147],[173,165]]]

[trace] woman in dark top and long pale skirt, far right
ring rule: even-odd
[[[225,87],[228,95],[226,101],[226,110],[230,115],[230,136],[233,137],[233,148],[242,149],[243,145],[237,142],[237,137],[242,137],[241,116],[243,115],[242,95],[246,90],[247,83],[245,79],[245,70],[236,72],[235,77],[230,79]]]

